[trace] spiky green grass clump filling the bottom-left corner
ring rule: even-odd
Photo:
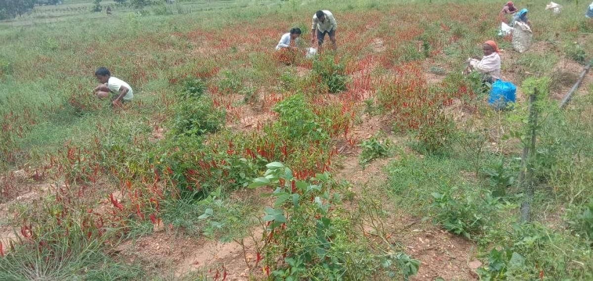
[[[109,243],[109,233],[100,237],[88,237],[88,231],[83,230],[80,225],[71,224],[68,228],[62,227],[39,237],[28,238],[26,243],[15,244],[8,254],[0,257],[0,279],[142,278],[142,270],[138,266],[116,264],[103,253],[103,244]]]

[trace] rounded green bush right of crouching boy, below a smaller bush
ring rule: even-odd
[[[176,135],[214,133],[224,125],[225,112],[215,108],[206,96],[186,99],[174,107],[173,132]]]

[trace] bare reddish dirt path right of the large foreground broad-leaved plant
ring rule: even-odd
[[[353,130],[358,135],[373,135],[379,128],[385,128],[387,120],[378,117],[367,117],[361,125]],[[403,140],[388,135],[397,145]],[[420,218],[404,214],[397,206],[390,205],[385,193],[387,174],[384,167],[397,155],[388,159],[378,159],[371,162],[365,169],[358,164],[359,150],[350,151],[350,155],[342,162],[342,169],[336,174],[336,179],[345,179],[352,183],[352,191],[357,195],[374,190],[382,198],[383,208],[390,214],[383,222],[390,231],[390,242],[399,242],[407,247],[406,253],[413,259],[420,260],[420,268],[416,276],[410,280],[477,280],[474,269],[482,264],[475,260],[476,245],[464,238],[457,237],[431,224],[422,222]],[[355,200],[356,201],[356,200]],[[356,211],[356,208],[353,208]]]

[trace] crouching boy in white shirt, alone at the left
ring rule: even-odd
[[[95,77],[99,81],[99,85],[93,90],[93,93],[98,98],[107,98],[111,93],[114,93],[114,98],[111,100],[113,106],[119,106],[122,101],[132,101],[134,91],[132,87],[121,79],[111,76],[109,69],[99,67],[95,71]]]

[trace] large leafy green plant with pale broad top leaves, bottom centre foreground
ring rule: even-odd
[[[401,252],[369,253],[348,219],[340,217],[336,182],[327,172],[298,180],[282,163],[266,165],[263,177],[250,188],[270,186],[276,198],[263,217],[263,244],[256,263],[282,280],[368,280],[392,265],[404,278],[416,273],[419,262]],[[389,272],[388,274],[394,274]]]

